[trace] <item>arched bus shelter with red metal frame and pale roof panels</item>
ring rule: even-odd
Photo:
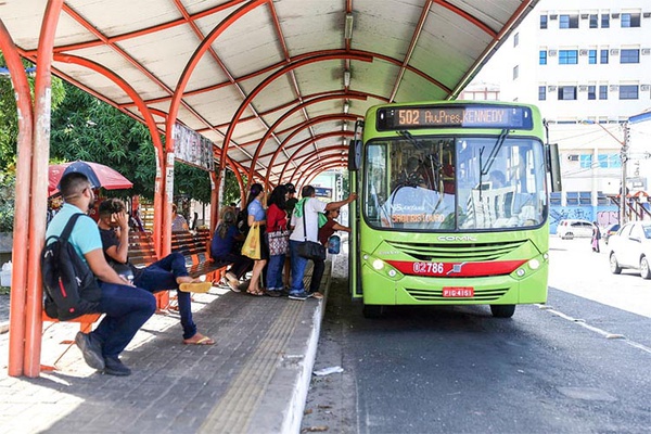
[[[386,102],[456,99],[537,0],[0,2],[20,133],[9,374],[40,372],[54,74],[143,123],[156,149],[154,240],[170,251],[174,163],[269,187],[345,167]],[[22,59],[34,62],[34,97]],[[188,143],[193,146],[188,149]],[[125,174],[128,176],[128,174]],[[29,216],[29,218],[23,218]]]

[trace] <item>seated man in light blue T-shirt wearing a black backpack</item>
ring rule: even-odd
[[[118,356],[156,310],[155,297],[120,278],[106,263],[100,230],[86,216],[95,200],[86,175],[65,175],[61,179],[60,191],[65,203],[52,218],[46,239],[53,237],[54,240],[74,215],[84,214],[77,218],[68,241],[99,280],[101,296],[97,311],[106,314],[94,331],[77,333],[75,342],[91,368],[110,375],[129,375],[131,370]]]

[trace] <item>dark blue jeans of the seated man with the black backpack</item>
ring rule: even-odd
[[[117,357],[154,315],[156,298],[136,286],[100,282],[100,288],[102,297],[98,310],[106,316],[91,334],[102,343],[104,357]]]

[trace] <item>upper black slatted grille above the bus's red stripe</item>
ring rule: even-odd
[[[516,250],[525,242],[525,240],[518,240],[499,243],[429,244],[387,241],[392,247],[418,260],[426,261],[495,260]]]

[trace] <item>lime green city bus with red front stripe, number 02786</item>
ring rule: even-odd
[[[369,108],[350,141],[350,291],[391,305],[547,301],[558,146],[534,105],[441,101]]]

